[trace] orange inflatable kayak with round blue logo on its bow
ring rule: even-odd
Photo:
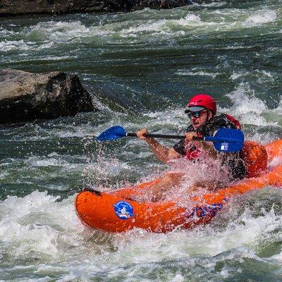
[[[276,157],[282,159],[282,140],[271,142],[264,148],[269,163]],[[262,161],[258,160],[258,163],[261,164]],[[154,180],[156,183],[157,181]],[[267,172],[240,180],[228,188],[193,195],[190,199],[193,202],[192,208],[183,207],[178,202],[137,202],[130,199],[151,184],[152,182],[142,183],[111,193],[83,190],[75,198],[76,212],[88,226],[111,232],[142,228],[146,231],[166,233],[175,228],[192,228],[211,221],[228,199],[235,195],[269,185],[282,187],[282,164],[280,162],[272,168],[267,167]]]

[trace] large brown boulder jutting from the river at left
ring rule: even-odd
[[[0,124],[93,110],[90,94],[77,75],[0,70]]]

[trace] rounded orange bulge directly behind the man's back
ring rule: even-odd
[[[257,177],[266,170],[268,156],[263,145],[255,141],[245,141],[241,155],[247,167],[247,178]]]

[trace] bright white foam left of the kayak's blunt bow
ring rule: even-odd
[[[0,203],[0,240],[11,248],[11,255],[20,258],[35,252],[54,259],[61,256],[58,249],[61,229],[75,230],[80,223],[73,212],[72,200],[57,200],[59,196],[34,191],[23,198],[8,196]],[[71,243],[72,235],[69,237]]]

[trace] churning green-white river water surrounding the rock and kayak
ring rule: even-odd
[[[1,18],[0,68],[78,74],[101,110],[0,128],[0,281],[282,281],[281,190],[168,234],[94,231],[73,207],[81,188],[168,169],[140,140],[94,137],[111,125],[183,133],[192,94],[212,94],[247,139],[280,138],[281,42],[281,0]]]

